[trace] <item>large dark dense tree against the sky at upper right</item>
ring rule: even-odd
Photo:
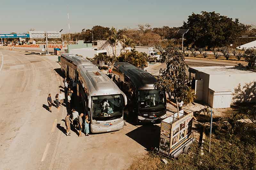
[[[183,28],[189,29],[185,34],[187,44],[192,46],[225,46],[233,44],[240,33],[247,29],[244,24],[239,23],[219,13],[202,11],[202,14],[188,16],[188,21],[183,23]]]

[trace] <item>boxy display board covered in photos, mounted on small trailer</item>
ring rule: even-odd
[[[172,114],[161,122],[159,151],[169,155],[173,150],[185,143],[191,136],[193,111],[188,114],[184,109]]]

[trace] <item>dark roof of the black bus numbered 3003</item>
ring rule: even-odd
[[[117,62],[114,66],[124,73],[124,75],[128,76],[138,89],[154,89],[154,83],[157,80],[150,73],[127,62]]]

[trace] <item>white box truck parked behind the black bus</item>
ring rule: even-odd
[[[149,46],[135,46],[134,49],[136,51],[138,51],[139,53],[140,52],[143,52],[143,53],[146,53],[147,56],[148,56],[148,59],[151,60],[151,61],[161,61],[162,60],[162,57],[157,54],[157,52],[155,51],[155,47],[149,47]]]

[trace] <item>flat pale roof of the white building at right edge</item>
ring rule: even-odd
[[[236,66],[209,66],[209,67],[189,67],[190,71],[199,71],[209,75],[213,74],[255,74],[255,72]]]

